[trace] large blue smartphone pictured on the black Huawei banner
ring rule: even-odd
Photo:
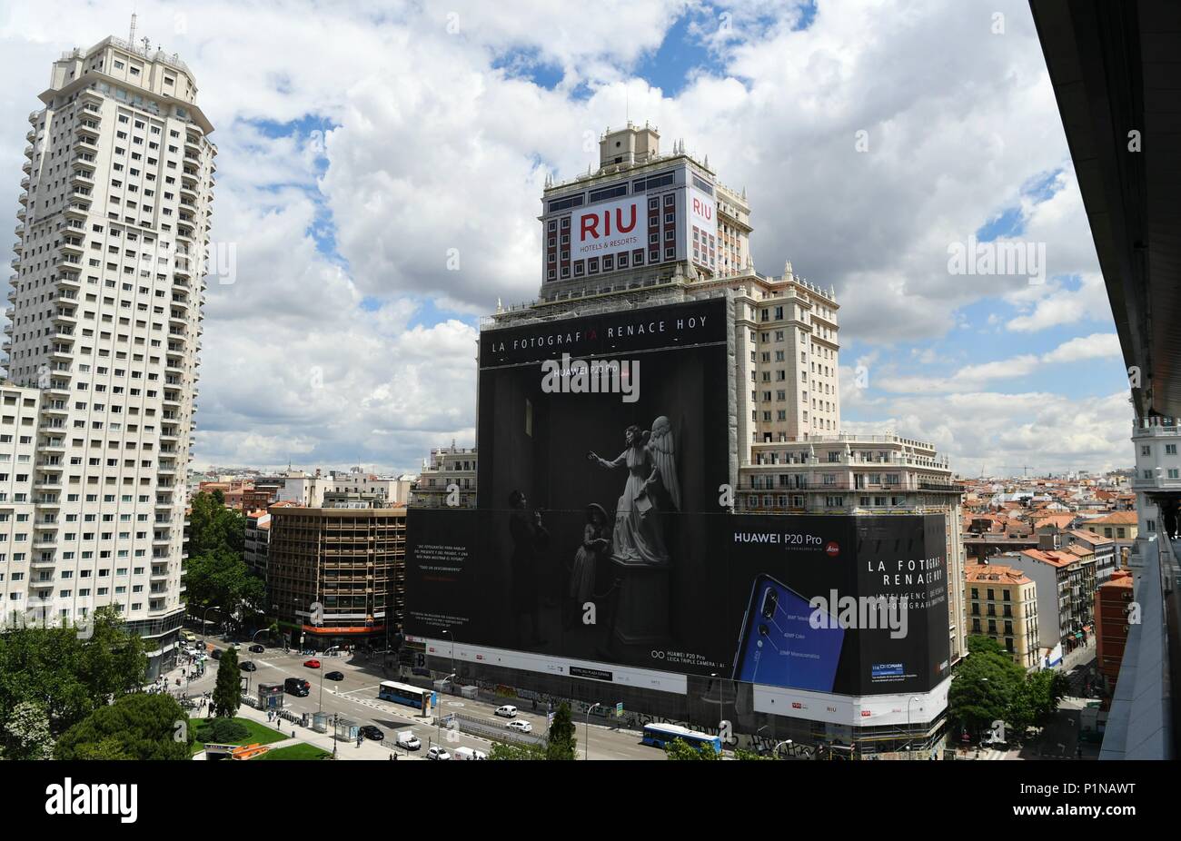
[[[755,579],[735,654],[735,680],[831,692],[844,628],[814,628],[808,600],[768,574]]]

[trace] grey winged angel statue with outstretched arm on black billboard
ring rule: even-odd
[[[663,415],[652,422],[651,432],[633,424],[624,431],[624,451],[613,461],[587,454],[588,461],[607,470],[627,469],[627,482],[615,506],[611,556],[624,563],[665,566],[668,550],[661,513],[680,508],[672,424]]]

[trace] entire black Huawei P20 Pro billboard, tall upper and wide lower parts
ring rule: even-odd
[[[592,679],[872,695],[946,677],[941,515],[720,507],[737,450],[730,306],[482,333],[478,508],[410,509],[409,635]]]

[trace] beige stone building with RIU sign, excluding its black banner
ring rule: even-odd
[[[726,363],[727,391],[719,391],[716,399],[726,404],[732,398],[729,405],[735,410],[729,441],[719,438],[717,446],[729,449],[733,510],[779,516],[941,515],[950,640],[950,664],[941,666],[954,665],[965,653],[961,489],[946,458],[928,443],[895,435],[842,435],[835,291],[796,275],[790,263],[781,276],[755,270],[745,194],[724,187],[707,159],[687,155],[683,144],[663,155],[655,130],[628,124],[600,138],[598,170],[561,184],[547,182],[539,221],[542,280],[537,300],[497,307],[482,328],[544,325],[553,333],[562,319],[615,312],[634,315],[648,307],[727,299],[732,321],[725,333],[727,352],[733,348],[732,363]],[[529,418],[527,409],[527,430],[531,429]],[[472,458],[472,471],[475,467]],[[424,504],[442,504],[454,475],[445,465],[424,470],[415,487],[415,504],[420,498]],[[474,483],[475,472],[471,478]],[[432,666],[449,667],[436,659],[448,652],[464,660],[457,665],[465,670],[463,674],[495,678],[524,692],[561,692],[585,700],[602,690],[593,677],[573,677],[574,666],[567,674],[569,664],[561,659],[505,656],[496,659],[505,665],[491,666],[490,658],[498,657],[500,650],[479,650],[471,640],[463,640],[462,651],[436,638],[412,641],[424,645]],[[590,665],[594,669],[585,667]],[[600,663],[578,667],[595,674],[627,671],[608,670]],[[739,692],[736,684],[651,671],[614,682],[612,691],[629,710],[692,717],[693,705],[720,704],[723,692]],[[658,685],[678,690],[645,689]],[[779,690],[756,683],[744,684],[740,692],[750,690],[759,715],[766,713],[758,724],[770,734],[768,738],[889,750],[908,742],[938,743],[948,686],[946,678],[921,697],[883,690],[880,695],[817,695],[807,702],[775,695]],[[716,702],[703,700],[709,698]],[[777,712],[769,712],[772,708]],[[794,712],[805,708],[813,712]]]

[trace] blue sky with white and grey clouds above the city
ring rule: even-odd
[[[836,291],[844,431],[929,441],[965,477],[1131,463],[1023,0],[197,8],[0,2],[8,230],[59,53],[125,38],[135,11],[196,76],[234,272],[207,293],[195,468],[413,472],[472,445],[479,319],[537,294],[546,178],[586,171],[628,118],[745,188],[759,272],[790,260]],[[1029,262],[957,262],[973,243]]]

